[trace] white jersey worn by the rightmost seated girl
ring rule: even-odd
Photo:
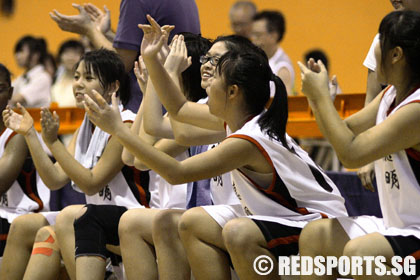
[[[391,86],[384,92],[379,105],[376,124],[380,124],[402,106],[420,102],[420,89],[392,108],[396,89]],[[375,162],[379,201],[386,227],[420,228],[420,153],[417,159],[410,156],[414,150],[402,150]],[[414,155],[416,157],[416,155]]]

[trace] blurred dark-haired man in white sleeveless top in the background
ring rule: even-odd
[[[262,11],[254,16],[251,41],[264,50],[271,70],[282,79],[287,94],[293,95],[295,71],[289,56],[279,46],[285,31],[286,22],[281,12]]]

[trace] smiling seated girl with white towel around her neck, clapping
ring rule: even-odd
[[[76,65],[74,75],[73,93],[77,106],[82,107],[85,97],[92,91],[108,101],[112,93],[118,93],[124,104],[128,100],[125,79],[124,65],[114,52],[98,50],[85,54]],[[3,113],[3,118],[9,128],[25,137],[36,169],[50,189],[59,189],[71,181],[73,188],[86,194],[86,201],[90,204],[119,205],[121,208],[148,206],[147,184],[142,181],[147,178],[143,178],[138,170],[124,166],[121,160],[122,146],[115,137],[111,138],[108,133],[94,126],[86,116],[66,148],[57,138],[58,116],[43,108],[41,112],[42,137],[57,160],[53,163],[40,146],[31,116],[23,107],[19,106],[19,108],[22,115],[8,108]],[[121,104],[118,108],[124,125],[129,125],[135,115],[127,110],[123,111]],[[36,230],[51,225],[51,221],[40,218],[37,216],[39,214],[25,215],[19,217],[21,218],[19,221],[15,221],[16,227],[22,230],[21,234],[13,236],[14,239],[30,240],[32,243],[35,240],[33,258],[25,277],[35,279],[36,276],[39,277],[38,279],[50,279],[57,273],[57,266],[50,265],[50,269],[44,269],[45,266],[39,265],[39,262],[47,261],[57,264],[61,253],[67,272],[72,279],[76,278],[73,221],[82,207],[83,205],[77,205],[64,209],[57,217],[54,231],[43,228],[41,232],[38,232],[37,238],[35,238]],[[35,217],[38,226],[32,229],[36,230],[25,230],[28,221],[34,221]],[[45,240],[50,240],[51,244],[46,246]],[[32,244],[29,248],[21,248],[18,242],[12,244],[13,246],[6,248],[6,253],[10,252],[11,262],[15,260],[13,256],[18,250],[24,255],[22,258],[25,261],[12,263],[12,269],[5,271],[5,279],[22,279]],[[12,277],[10,271],[14,271],[13,275],[18,276]]]

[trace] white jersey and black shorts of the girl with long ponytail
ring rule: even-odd
[[[298,252],[301,229],[322,217],[347,216],[344,199],[334,183],[288,135],[289,149],[261,131],[260,116],[248,121],[228,137],[255,144],[273,168],[267,174],[246,169],[231,171],[233,189],[243,211],[258,225],[273,254]]]

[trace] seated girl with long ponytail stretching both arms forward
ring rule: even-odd
[[[224,233],[225,242],[220,238],[221,226],[209,224],[210,229],[203,228],[203,231],[215,233],[215,238],[199,241],[200,250],[207,247],[212,254],[198,261],[200,257],[187,248],[188,259],[197,279],[225,279],[230,277],[230,269],[223,252],[229,251],[239,277],[256,279],[258,275],[252,269],[255,257],[296,254],[296,236],[301,228],[314,219],[346,215],[344,199],[331,180],[285,133],[287,92],[281,80],[273,75],[261,50],[224,54],[207,88],[208,103],[188,102],[170,78],[179,75],[185,60],[180,59],[174,67],[165,70],[157,56],[163,44],[162,35],[150,17],[149,20],[152,26],[142,26],[145,36],[141,52],[156,92],[171,117],[225,131],[229,137],[214,149],[179,162],[144,143],[122,125],[115,96],[112,106],[98,94],[87,97],[87,112],[94,123],[171,184],[231,172],[243,211],[252,217],[232,220],[230,226],[226,224],[225,229],[229,230]],[[172,46],[172,50],[186,59],[186,55],[182,56],[185,54],[182,44]],[[270,108],[265,110],[270,81],[276,85],[276,93]],[[180,229],[188,228],[181,222]],[[293,235],[290,239],[293,244],[270,242],[284,234]],[[209,273],[198,273],[205,269]]]

